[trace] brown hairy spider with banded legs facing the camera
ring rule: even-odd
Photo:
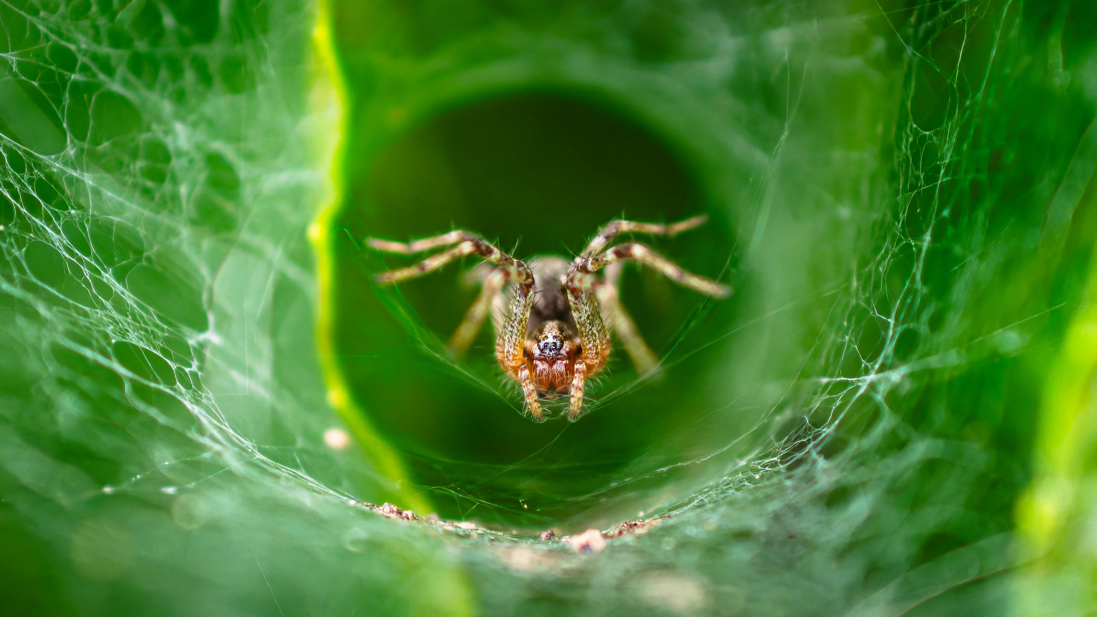
[[[533,420],[545,419],[542,397],[569,394],[567,417],[575,422],[583,412],[587,380],[602,370],[612,350],[609,328],[621,339],[638,373],[649,373],[658,364],[621,305],[618,290],[625,261],[648,266],[705,295],[727,298],[732,293],[730,287],[687,272],[640,243],[611,243],[629,232],[672,237],[705,221],[705,215],[670,225],[611,221],[570,262],[556,255],[539,255],[525,263],[464,229],[410,243],[381,238],[366,238],[366,243],[375,250],[400,255],[450,247],[412,266],[377,274],[374,281],[378,283],[421,277],[473,255],[483,259],[484,266],[490,265],[474,270],[480,278],[480,293],[450,339],[451,352],[460,356],[468,348],[490,310],[495,357],[521,385]]]

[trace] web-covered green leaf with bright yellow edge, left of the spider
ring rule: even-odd
[[[434,534],[348,503],[391,481],[325,442],[316,23],[0,4],[5,614],[467,613]]]

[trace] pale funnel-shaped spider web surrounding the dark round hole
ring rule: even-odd
[[[640,516],[663,517],[579,554],[377,516],[362,502],[399,487],[325,440],[344,427],[306,229],[333,190],[340,101],[316,7],[3,0],[0,535],[33,565],[5,566],[5,597],[43,614],[1004,610],[1031,384],[1090,248],[1068,227],[1085,183],[1062,184],[1089,156],[1095,81],[1070,7],[579,3],[456,27],[373,5],[375,53],[344,65],[378,71],[378,100],[408,96],[377,68],[395,60],[453,96],[548,64],[632,97],[723,182],[754,300],[710,344],[727,350],[714,370],[757,363],[762,394],[714,389],[668,440],[704,431],[703,451],[577,498],[659,494]],[[402,47],[416,27],[434,38]],[[1058,66],[1025,68],[1049,36]],[[1006,111],[1033,101],[1058,124]],[[1031,204],[1053,195],[1067,215],[1045,224]],[[700,471],[668,480],[681,469]]]

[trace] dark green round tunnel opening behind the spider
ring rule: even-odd
[[[685,456],[659,445],[702,408],[693,392],[705,354],[637,383],[618,349],[593,384],[596,410],[576,424],[538,425],[522,417],[517,388],[495,363],[490,326],[461,361],[430,350],[475,299],[477,290],[462,283],[475,261],[377,290],[373,273],[409,259],[361,244],[366,235],[407,239],[466,228],[519,258],[569,257],[612,218],[672,222],[708,211],[703,190],[670,147],[583,100],[525,93],[436,116],[376,156],[348,160],[347,177],[339,222],[346,240],[337,250],[339,361],[353,396],[410,461],[416,482],[432,487],[440,514],[544,525],[588,508],[593,502],[580,495],[636,472],[641,458],[647,467]],[[715,213],[706,228],[644,242],[716,277],[730,236]],[[698,319],[702,296],[637,268],[626,272],[623,296],[660,357],[702,341],[704,328],[730,310]]]

